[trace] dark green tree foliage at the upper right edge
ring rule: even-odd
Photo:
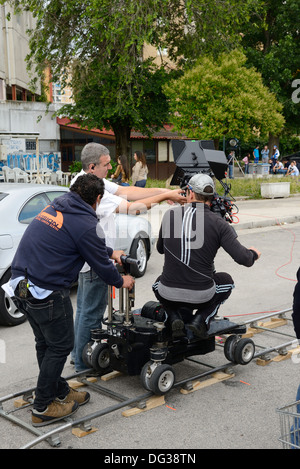
[[[298,133],[300,104],[292,95],[300,79],[299,18],[299,0],[262,0],[243,26],[242,39],[248,63],[283,105],[286,129]]]

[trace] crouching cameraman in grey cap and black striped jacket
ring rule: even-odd
[[[161,276],[153,291],[165,308],[174,335],[186,327],[205,337],[211,319],[234,287],[231,276],[215,272],[220,247],[238,264],[251,267],[260,252],[247,249],[222,217],[210,210],[214,182],[207,174],[194,175],[186,188],[187,204],[171,208],[160,227],[157,250],[164,254]],[[192,311],[197,309],[196,314]]]

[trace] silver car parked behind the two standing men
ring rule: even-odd
[[[47,184],[0,183],[0,325],[16,326],[25,321],[1,286],[11,276],[11,263],[20,239],[33,218],[56,197],[69,189]],[[154,239],[150,223],[142,217],[116,214],[116,245],[126,254],[139,260],[132,266],[135,277],[146,272]],[[34,243],[34,239],[32,240]],[[42,272],[41,272],[42,275]]]

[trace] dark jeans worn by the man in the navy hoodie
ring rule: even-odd
[[[73,308],[69,290],[53,292],[45,300],[14,297],[26,315],[36,343],[39,376],[35,390],[34,408],[44,410],[69,392],[67,381],[61,377],[66,359],[74,346]]]

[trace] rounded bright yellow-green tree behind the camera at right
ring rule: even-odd
[[[206,57],[167,84],[176,130],[191,138],[213,139],[216,145],[223,136],[249,140],[278,133],[284,125],[282,106],[260,74],[245,63],[239,51]]]

